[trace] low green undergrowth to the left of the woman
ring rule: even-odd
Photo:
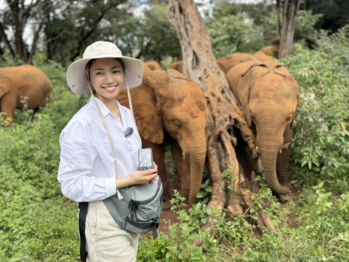
[[[13,63],[10,57],[4,60]],[[73,261],[79,256],[77,206],[62,196],[57,170],[59,134],[87,96],[72,94],[64,68],[44,61],[37,56],[34,64],[50,76],[58,102],[51,96],[31,122],[32,109],[16,109],[15,123],[0,126],[0,261]]]

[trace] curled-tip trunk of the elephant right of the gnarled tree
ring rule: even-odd
[[[282,149],[283,139],[273,137],[257,138],[260,148],[264,175],[268,187],[279,195],[285,195],[290,192],[288,187],[282,186],[277,180],[276,159],[277,154]]]

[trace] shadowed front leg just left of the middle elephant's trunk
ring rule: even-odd
[[[171,152],[174,163],[176,163],[178,174],[180,177],[180,195],[189,200],[190,192],[190,159],[187,155],[183,159],[183,150],[179,146],[178,141],[171,144]]]

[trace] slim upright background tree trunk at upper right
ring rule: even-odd
[[[284,16],[280,38],[279,59],[292,53],[293,37],[296,29],[300,0],[284,0]]]

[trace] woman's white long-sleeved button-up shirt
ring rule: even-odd
[[[121,120],[96,98],[109,127],[118,160],[119,178],[138,169],[139,134],[131,111],[118,101]],[[125,137],[125,129],[133,134]],[[116,194],[116,160],[108,134],[91,97],[69,121],[59,137],[58,181],[63,195],[76,202],[103,200]]]

